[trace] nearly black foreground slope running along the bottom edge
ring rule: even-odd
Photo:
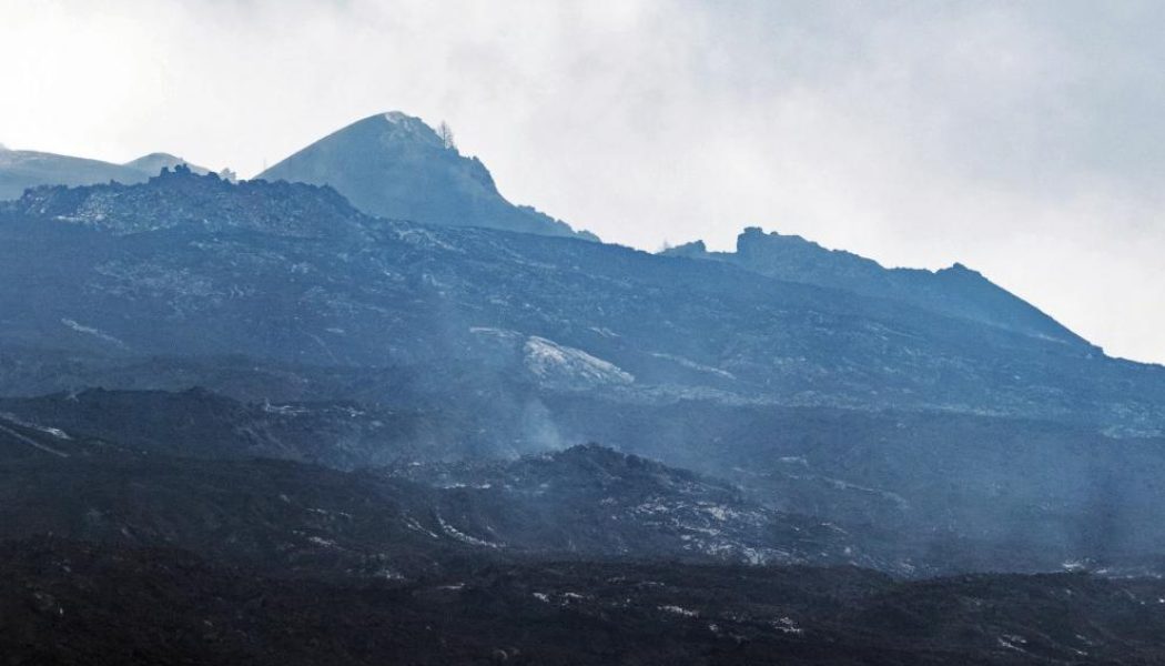
[[[612,562],[353,587],[36,539],[0,544],[0,652],[43,666],[1159,664],[1163,597],[1160,581],[1072,574]]]

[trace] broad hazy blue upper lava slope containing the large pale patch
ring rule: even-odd
[[[1089,345],[721,261],[383,220],[330,188],[185,169],[43,188],[0,209],[0,343],[453,369],[510,395],[1165,425],[1165,370]]]

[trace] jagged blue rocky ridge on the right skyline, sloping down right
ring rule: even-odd
[[[736,252],[708,252],[698,240],[664,253],[726,261],[779,280],[892,299],[1024,335],[1073,345],[1087,344],[1032,304],[961,264],[938,272],[883,268],[850,252],[826,250],[799,236],[767,234],[758,227],[746,229],[737,237]]]

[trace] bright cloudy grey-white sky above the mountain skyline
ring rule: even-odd
[[[0,0],[0,143],[247,177],[373,113],[655,251],[966,264],[1165,363],[1165,3]]]

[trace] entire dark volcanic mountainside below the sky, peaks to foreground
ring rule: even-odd
[[[1165,369],[970,268],[596,243],[400,113],[270,181],[50,157],[6,664],[1165,658]]]

